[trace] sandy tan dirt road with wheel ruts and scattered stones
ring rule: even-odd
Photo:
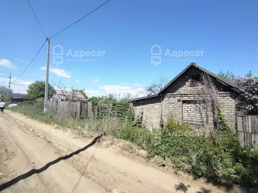
[[[0,192],[213,192],[102,148],[101,136],[87,141],[5,112],[0,116]]]

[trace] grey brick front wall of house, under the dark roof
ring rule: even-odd
[[[193,102],[195,100],[193,98],[193,91],[196,87],[190,86],[190,77],[200,73],[201,71],[198,68],[190,68],[169,86],[161,96],[134,101],[135,115],[137,116],[143,111],[143,122],[151,130],[159,128],[161,115],[163,120],[166,121],[170,113],[173,113],[176,118],[185,122],[212,125],[212,116],[209,113],[210,108],[208,107],[206,116],[206,109],[200,109],[200,106]],[[225,115],[229,126],[235,129],[236,92],[220,82],[215,81],[214,84],[221,91],[220,104],[222,113]],[[203,117],[201,117],[201,114],[203,114]]]

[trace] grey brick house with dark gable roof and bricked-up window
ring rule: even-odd
[[[207,73],[212,78],[219,90],[221,111],[229,126],[235,129],[235,99],[244,90],[195,63],[185,68],[158,94],[130,100],[133,103],[135,116],[143,112],[143,122],[150,130],[159,128],[161,117],[166,121],[169,113],[173,113],[176,118],[191,125],[211,125],[212,118],[207,112],[209,108],[200,108],[200,104],[193,97],[195,85],[199,84],[203,73]]]

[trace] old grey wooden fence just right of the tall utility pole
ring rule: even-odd
[[[60,118],[64,117],[89,117],[91,112],[91,103],[88,101],[48,101],[48,109]]]

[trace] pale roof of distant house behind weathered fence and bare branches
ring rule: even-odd
[[[74,91],[55,91],[55,94],[50,100],[55,101],[87,101],[87,99],[80,92]]]

